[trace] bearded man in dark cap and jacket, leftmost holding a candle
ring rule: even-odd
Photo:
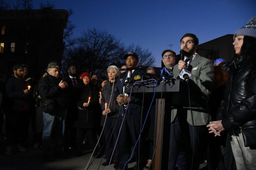
[[[24,147],[26,143],[27,128],[25,122],[29,118],[29,92],[26,82],[22,79],[23,67],[16,64],[12,68],[14,76],[8,79],[6,83],[6,93],[10,102],[10,134],[8,135],[8,146],[6,154],[12,154],[12,144],[18,141],[19,151],[26,151]],[[9,121],[8,121],[9,123]]]

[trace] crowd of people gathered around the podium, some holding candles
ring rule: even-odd
[[[203,99],[207,107],[170,110],[170,124],[165,125],[170,126],[168,169],[196,170],[205,159],[208,169],[256,169],[256,17],[235,32],[235,56],[228,62],[213,63],[197,54],[199,41],[192,33],[180,42],[184,58],[177,61],[174,51],[164,50],[165,67],[159,77],[188,80],[191,99]],[[49,63],[37,83],[28,77],[29,66],[13,66],[13,75],[0,92],[6,117],[5,154],[11,155],[14,146],[26,151],[31,120],[33,145],[41,149],[44,161],[70,149],[81,156],[88,142],[94,158],[106,159],[103,166],[114,163],[115,169],[127,169],[134,155],[134,169],[151,169],[156,106],[151,107],[142,132],[149,106],[136,93],[130,95],[127,83],[157,73],[153,67],[147,68],[147,74],[129,69],[138,67],[135,52],[124,59],[122,71],[109,66],[107,76],[100,78],[89,72],[79,74],[74,64],[61,78],[59,65]],[[0,118],[3,122],[2,112]]]

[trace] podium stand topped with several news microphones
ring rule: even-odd
[[[191,85],[191,84],[190,84]],[[189,86],[190,86],[189,85]],[[154,147],[155,156],[152,160],[152,167],[154,170],[168,169],[168,155],[169,155],[169,139],[170,139],[170,120],[171,110],[173,108],[187,107],[188,103],[188,84],[181,81],[173,81],[168,84],[160,82],[155,87],[136,86],[133,87],[132,95],[136,94],[136,98],[142,99],[144,93],[147,102],[151,102],[155,92],[155,131],[154,131]],[[206,108],[206,100],[199,94],[190,93],[193,96],[191,106],[198,108]],[[161,99],[162,95],[162,99]],[[192,97],[191,97],[192,98]],[[154,104],[154,103],[153,103]],[[159,132],[159,134],[158,134]],[[158,137],[159,135],[159,137]],[[157,142],[158,138],[158,142]]]

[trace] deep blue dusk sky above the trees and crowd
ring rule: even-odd
[[[14,0],[9,0],[11,2]],[[34,9],[39,2],[33,0]],[[161,53],[170,48],[179,54],[180,38],[194,33],[199,44],[233,34],[256,16],[256,0],[52,0],[56,9],[74,12],[74,36],[97,28],[121,38],[126,46],[140,44],[149,49],[161,67]]]

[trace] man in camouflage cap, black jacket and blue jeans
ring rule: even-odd
[[[44,161],[51,159],[51,144],[55,142],[56,151],[60,151],[61,137],[64,135],[65,118],[68,104],[68,84],[59,79],[59,66],[49,63],[47,76],[39,81],[38,91],[41,96],[44,129],[42,135],[42,154]]]

